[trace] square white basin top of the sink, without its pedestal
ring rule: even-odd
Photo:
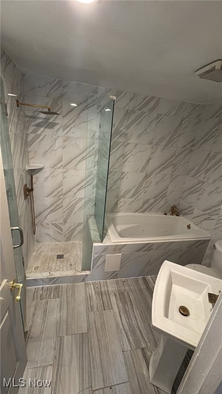
[[[152,325],[194,350],[212,311],[208,293],[221,290],[221,279],[164,261],[153,294]],[[180,313],[180,306],[189,316]]]

